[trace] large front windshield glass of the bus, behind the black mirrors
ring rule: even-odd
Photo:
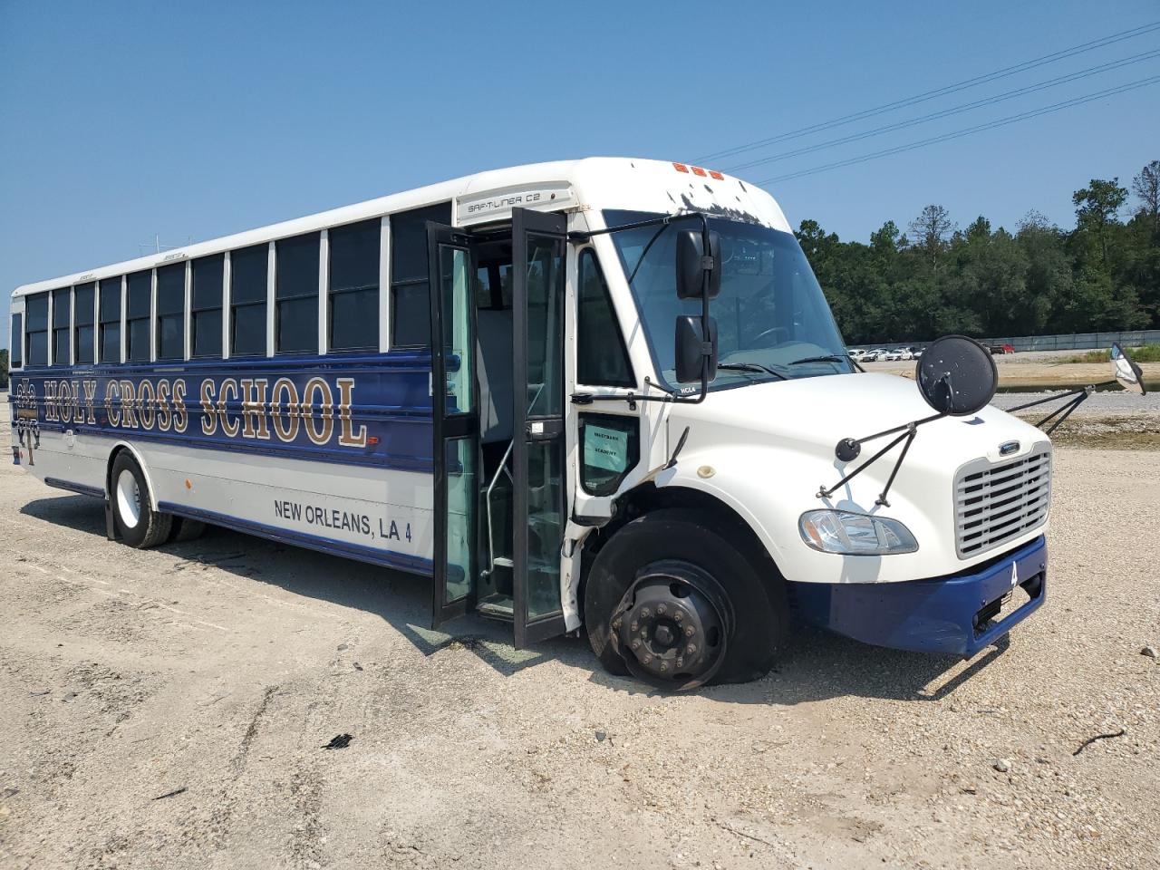
[[[604,212],[608,226],[654,217],[660,216]],[[719,369],[712,387],[854,371],[834,317],[797,239],[768,226],[722,218],[711,218],[709,226],[720,235],[722,245],[722,291],[709,305],[710,317],[717,320],[718,364],[749,364]],[[657,370],[674,387],[681,386],[674,376],[676,318],[701,314],[699,299],[676,298],[679,229],[699,230],[701,222],[679,220],[664,227],[643,226],[611,233],[624,276],[632,277],[632,296]],[[812,357],[838,358],[802,362]],[[759,367],[776,374],[761,371]]]

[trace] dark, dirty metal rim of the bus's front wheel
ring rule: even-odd
[[[705,571],[684,561],[646,566],[612,614],[612,637],[629,670],[667,689],[712,679],[725,658],[728,599]]]

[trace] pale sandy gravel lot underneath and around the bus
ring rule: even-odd
[[[413,578],[129,550],[2,465],[0,868],[1160,867],[1157,458],[1058,450],[1049,603],[1003,648],[803,631],[680,697],[425,630]]]

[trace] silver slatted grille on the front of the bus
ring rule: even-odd
[[[955,546],[967,559],[1042,525],[1051,502],[1051,448],[992,464],[976,459],[955,478]]]

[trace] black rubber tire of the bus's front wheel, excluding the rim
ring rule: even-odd
[[[629,673],[611,625],[629,587],[646,568],[677,561],[708,574],[731,611],[724,659],[706,682],[746,682],[768,673],[789,632],[789,606],[773,560],[748,552],[754,549],[694,510],[658,510],[619,529],[593,560],[585,589],[588,640],[604,669]]]

